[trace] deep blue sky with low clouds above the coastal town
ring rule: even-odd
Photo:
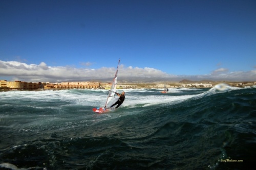
[[[254,0],[0,1],[0,80],[256,81]]]

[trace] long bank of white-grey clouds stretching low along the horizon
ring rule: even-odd
[[[62,81],[89,81],[89,80],[112,80],[116,68],[101,67],[94,68],[75,68],[71,66],[47,66],[45,62],[39,65],[26,64],[17,61],[0,60],[0,79],[10,77],[8,81],[20,80],[27,82],[62,82]],[[181,81],[189,80],[227,80],[227,81],[256,81],[256,70],[228,72],[227,68],[219,68],[209,75],[179,76],[170,75],[161,70],[150,67],[125,67],[119,66],[119,80],[136,80],[136,81]]]

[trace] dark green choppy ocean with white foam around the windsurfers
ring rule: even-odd
[[[122,91],[0,92],[0,169],[255,169],[256,86]]]

